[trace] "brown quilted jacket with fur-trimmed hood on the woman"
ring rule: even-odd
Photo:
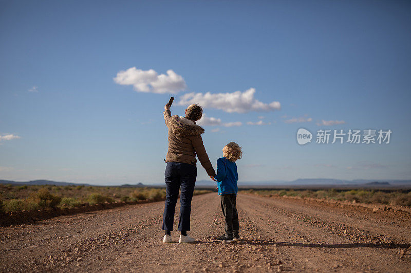
[[[169,150],[165,162],[182,162],[196,165],[196,154],[209,176],[215,176],[201,134],[204,129],[193,120],[171,116],[170,110],[164,111],[164,121],[169,128]]]

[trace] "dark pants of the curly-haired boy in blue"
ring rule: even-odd
[[[238,213],[236,204],[237,195],[225,194],[221,195],[221,209],[222,214],[226,218],[225,231],[226,236],[238,235]]]

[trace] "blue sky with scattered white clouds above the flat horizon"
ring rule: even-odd
[[[410,8],[0,1],[0,179],[162,183],[171,95],[172,114],[193,97],[207,106],[214,166],[225,144],[242,146],[240,181],[410,179]],[[298,145],[299,128],[313,140],[319,129],[393,133],[389,144]]]

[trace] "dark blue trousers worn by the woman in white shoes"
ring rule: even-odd
[[[167,162],[164,177],[166,195],[163,229],[173,230],[174,212],[181,186],[178,230],[190,230],[191,199],[197,178],[197,167],[188,163]]]

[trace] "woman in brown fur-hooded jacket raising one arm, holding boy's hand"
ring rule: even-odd
[[[181,186],[180,196],[180,243],[191,243],[195,239],[187,235],[190,230],[191,199],[197,178],[196,154],[201,165],[210,177],[216,176],[210,159],[204,148],[201,134],[204,129],[196,125],[202,116],[202,108],[198,104],[191,104],[185,109],[185,117],[171,116],[168,104],[164,106],[164,120],[169,128],[169,150],[165,157],[165,207],[163,214],[163,243],[171,242],[174,212]]]

